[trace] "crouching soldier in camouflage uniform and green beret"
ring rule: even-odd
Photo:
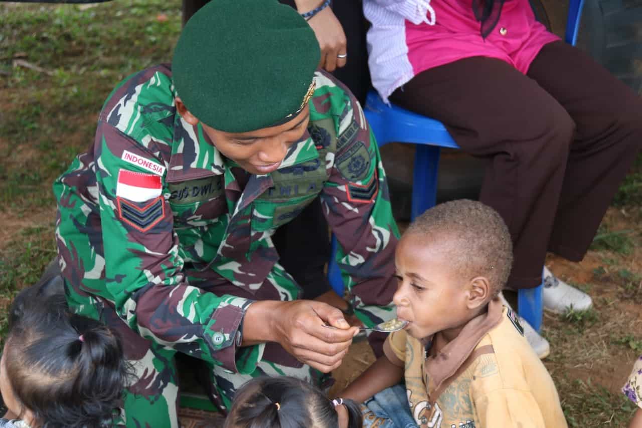
[[[135,362],[126,426],[178,426],[177,352],[208,364],[221,409],[252,377],[319,384],[341,364],[357,328],[297,300],[306,284],[271,240],[318,195],[357,316],[392,317],[398,232],[379,152],[354,96],[318,64],[292,8],[213,1],[171,67],[117,85],[94,143],[54,184],[69,305],[119,331]],[[369,336],[379,355],[384,338]]]

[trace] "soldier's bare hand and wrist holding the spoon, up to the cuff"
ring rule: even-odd
[[[322,302],[257,301],[245,313],[243,344],[277,342],[300,362],[329,373],[341,365],[358,331]]]

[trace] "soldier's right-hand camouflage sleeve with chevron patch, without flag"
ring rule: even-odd
[[[340,85],[337,83],[337,85]],[[358,101],[347,89],[338,120],[337,146],[322,193],[324,213],[337,238],[336,261],[354,298],[356,315],[372,326],[394,316],[394,251],[399,240],[377,143]],[[370,335],[381,355],[384,335]]]

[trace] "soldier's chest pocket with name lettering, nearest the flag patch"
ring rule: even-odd
[[[169,207],[174,217],[174,228],[202,227],[218,222],[227,214],[227,201],[222,177],[169,184]]]

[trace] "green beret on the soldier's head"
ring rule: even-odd
[[[189,19],[172,60],[187,109],[209,127],[248,132],[300,111],[320,59],[314,31],[276,0],[212,0]]]

